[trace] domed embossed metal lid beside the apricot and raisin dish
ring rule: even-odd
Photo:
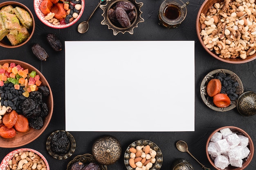
[[[249,91],[241,94],[237,101],[237,110],[241,115],[253,116],[256,114],[256,93]]]

